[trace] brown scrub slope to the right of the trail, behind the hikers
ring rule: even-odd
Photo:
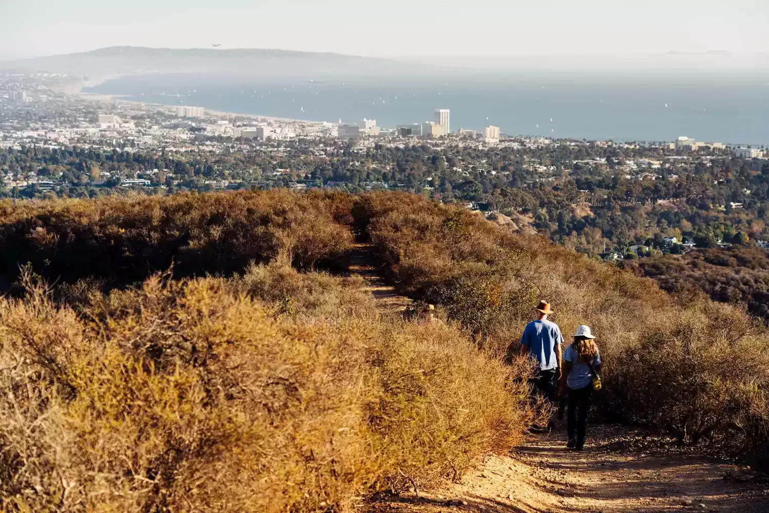
[[[401,291],[443,305],[497,355],[514,354],[534,304],[548,299],[567,339],[581,324],[598,334],[604,418],[769,463],[769,331],[744,311],[674,304],[649,279],[418,196],[368,194],[353,212]]]

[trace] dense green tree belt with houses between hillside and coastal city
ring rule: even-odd
[[[633,244],[662,249],[665,236],[687,236],[702,247],[737,234],[769,238],[769,164],[725,152],[663,162],[671,156],[676,155],[658,147],[594,143],[538,148],[375,145],[353,151],[341,142],[324,142],[322,149],[305,142],[248,150],[225,145],[218,153],[25,147],[0,151],[0,169],[62,180],[68,185],[58,194],[73,197],[104,194],[123,178],[168,185],[164,194],[179,188],[205,190],[212,187],[205,182],[221,179],[244,188],[292,181],[319,188],[333,183],[351,192],[395,186],[443,202],[472,201],[502,213],[530,215],[540,232],[590,254],[607,245],[623,253]],[[661,167],[644,168],[654,159]],[[625,170],[624,165],[634,162],[641,162],[638,171]],[[46,193],[5,188],[5,194]],[[589,208],[575,208],[579,205]]]

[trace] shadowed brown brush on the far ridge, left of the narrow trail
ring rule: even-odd
[[[349,228],[335,221],[348,201],[269,191],[0,202],[0,286],[27,263],[49,282],[107,287],[171,264],[177,278],[230,275],[252,260],[311,269],[348,248]]]

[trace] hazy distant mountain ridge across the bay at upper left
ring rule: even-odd
[[[0,69],[105,77],[143,73],[202,73],[255,78],[387,75],[428,68],[382,58],[259,48],[144,48],[115,46],[92,52],[2,62]]]

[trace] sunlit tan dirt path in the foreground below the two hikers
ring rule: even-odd
[[[725,480],[744,469],[708,458],[628,449],[638,436],[591,426],[593,443],[568,451],[562,433],[531,436],[509,456],[493,456],[461,483],[431,494],[382,498],[369,512],[619,513],[625,511],[769,511],[769,488]]]

